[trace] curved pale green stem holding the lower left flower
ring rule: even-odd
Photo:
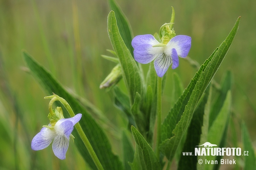
[[[67,109],[68,113],[70,114],[70,117],[74,117],[75,113],[73,112],[72,108],[67,103],[67,101],[64,98],[59,97],[58,95],[55,95],[55,97],[58,98],[58,101],[60,101],[61,104],[64,105],[64,107]],[[90,144],[90,141],[88,140],[88,138],[84,134],[84,131],[82,130],[82,127],[79,124],[79,122],[75,124],[75,127],[76,127],[76,130],[79,133],[82,141],[84,142],[84,145],[86,146],[88,152],[90,153],[90,156],[92,157],[92,159],[93,159],[96,167],[98,168],[98,170],[104,170],[103,167],[102,167],[102,164],[99,161],[99,158],[97,157],[96,153],[93,150],[92,145]]]

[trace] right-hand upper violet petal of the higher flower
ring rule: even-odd
[[[166,49],[176,49],[178,56],[184,58],[189,54],[191,47],[191,37],[186,35],[177,35],[173,37],[166,45]],[[168,52],[166,52],[168,54]]]

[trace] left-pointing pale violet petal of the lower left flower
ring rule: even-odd
[[[49,128],[43,127],[41,131],[35,135],[31,142],[32,150],[42,150],[52,143],[55,132]]]

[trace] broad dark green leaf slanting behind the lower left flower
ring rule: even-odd
[[[119,158],[112,153],[111,145],[107,136],[103,132],[102,128],[91,117],[91,115],[61,86],[57,80],[55,80],[55,78],[52,77],[52,75],[46,69],[44,69],[43,66],[32,59],[28,53],[23,52],[23,56],[32,72],[32,75],[36,78],[43,89],[46,90],[47,95],[52,95],[52,92],[54,92],[55,94],[64,98],[70,104],[75,113],[82,113],[82,118],[79,123],[84,130],[85,135],[87,135],[87,138],[89,139],[90,144],[98,156],[103,168],[105,170],[122,170],[122,163]],[[64,117],[68,118],[70,115],[67,112],[64,112]],[[83,156],[84,160],[87,161],[93,170],[97,170],[77,131],[74,130],[72,134],[76,138],[75,144],[77,148],[79,148],[81,156]]]

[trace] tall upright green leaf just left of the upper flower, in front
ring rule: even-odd
[[[108,14],[108,35],[122,66],[122,75],[130,95],[130,104],[133,104],[136,92],[144,96],[142,75],[131,52],[122,40],[113,11]]]

